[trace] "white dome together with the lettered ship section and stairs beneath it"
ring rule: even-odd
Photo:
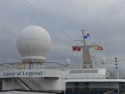
[[[50,45],[51,38],[42,27],[24,28],[17,39],[22,62],[0,65],[0,94],[64,92],[67,67],[57,62],[45,62]]]

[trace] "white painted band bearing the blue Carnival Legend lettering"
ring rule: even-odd
[[[67,77],[68,71],[50,70],[50,69],[24,69],[24,70],[6,70],[0,71],[0,78],[10,77]]]

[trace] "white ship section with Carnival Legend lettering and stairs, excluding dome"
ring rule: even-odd
[[[53,62],[51,62],[53,63]],[[46,62],[47,64],[47,62]],[[28,68],[28,66],[34,66]],[[60,93],[65,90],[65,78],[68,71],[62,70],[65,66],[55,62],[55,66],[43,67],[43,64],[12,63],[2,64],[0,78],[2,91],[34,91]],[[56,68],[60,66],[59,68]]]

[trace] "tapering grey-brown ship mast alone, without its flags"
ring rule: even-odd
[[[82,31],[82,36],[83,36],[83,45],[81,46],[82,50],[83,50],[83,66],[82,68],[87,69],[87,68],[93,68],[93,62],[92,62],[92,58],[89,52],[89,48],[91,48],[93,45],[87,45],[86,44],[86,40],[84,37],[84,31],[85,30],[81,30]]]

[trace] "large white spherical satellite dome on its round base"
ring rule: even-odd
[[[40,26],[25,27],[16,41],[23,62],[42,62],[50,49],[49,33]]]

